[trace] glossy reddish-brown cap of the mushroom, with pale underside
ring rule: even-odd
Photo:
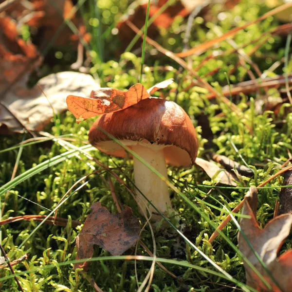
[[[125,145],[133,142],[161,145],[167,164],[188,166],[194,164],[198,139],[191,119],[176,103],[160,98],[147,98],[125,110],[103,114],[89,131],[89,142],[102,152],[125,157],[126,151],[104,129]]]

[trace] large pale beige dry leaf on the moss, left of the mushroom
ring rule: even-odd
[[[55,114],[67,110],[66,96],[90,94],[92,87],[99,83],[89,74],[77,72],[60,72],[41,78],[36,85],[27,89],[22,82],[11,87],[0,99],[0,133],[23,132],[43,129]],[[50,105],[50,103],[51,105]],[[23,125],[23,126],[22,126]]]

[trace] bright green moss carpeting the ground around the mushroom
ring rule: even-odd
[[[97,41],[97,37],[101,33],[106,33],[107,27],[112,26],[118,20],[120,12],[127,10],[128,4],[127,0],[100,1],[98,8],[90,9],[90,13],[87,12],[87,6],[81,7],[84,18],[91,19],[88,24],[89,29],[94,31],[96,28],[97,22],[92,20],[93,18],[98,19],[100,24],[99,30],[95,30],[93,34],[90,54],[93,56],[91,73],[100,76],[103,87],[126,90],[139,81],[142,61],[140,57],[129,52],[117,56],[115,54],[119,45],[117,36],[107,33],[109,36],[104,37],[102,43]],[[94,1],[90,1],[90,5],[95,5]],[[118,7],[118,12],[111,7]],[[96,15],[94,15],[94,11]],[[234,26],[258,18],[267,12],[268,8],[263,4],[255,5],[252,0],[242,0],[234,9],[224,12],[225,15],[221,14],[220,19],[222,20],[216,18],[220,11],[221,6],[215,5],[211,9],[210,20],[205,21],[201,16],[194,19],[190,47],[216,37],[211,29],[214,25],[218,25],[222,32],[226,32]],[[176,18],[168,31],[161,30],[161,37],[157,41],[172,52],[181,52],[186,21],[187,19]],[[234,40],[238,46],[249,43],[251,39],[260,37],[261,34],[278,24],[276,18],[267,18],[238,32]],[[274,62],[284,58],[285,44],[285,37],[271,36],[251,58],[264,72]],[[244,50],[248,53],[255,46],[256,43],[248,44]],[[105,48],[107,50],[104,50]],[[191,56],[193,68],[199,66],[205,57],[218,50],[230,52],[233,48],[228,42],[222,42],[219,48],[211,49],[200,56]],[[151,54],[148,54],[149,52]],[[228,214],[223,206],[227,210],[232,210],[243,198],[246,187],[262,183],[276,173],[277,167],[288,159],[287,149],[292,151],[292,113],[287,114],[286,104],[282,106],[277,116],[272,111],[257,114],[258,96],[256,93],[249,95],[241,93],[236,99],[233,99],[233,102],[243,112],[242,117],[238,118],[235,112],[230,111],[228,104],[208,100],[205,89],[196,85],[191,86],[192,79],[189,73],[177,72],[179,66],[173,60],[164,55],[157,55],[149,45],[146,45],[145,53],[143,84],[149,88],[164,79],[175,78],[175,83],[163,92],[167,99],[176,100],[191,117],[199,136],[199,157],[204,157],[207,150],[204,147],[207,141],[201,137],[202,129],[197,122],[203,111],[208,115],[214,133],[213,142],[216,147],[214,150],[241,164],[246,162],[255,172],[253,178],[242,177],[238,187],[214,187],[210,195],[203,199],[209,192],[213,181],[199,167],[192,166],[189,169],[182,169],[170,166],[168,168],[172,203],[186,228],[183,236],[175,232],[171,233],[171,227],[168,228],[168,233],[160,224],[154,228],[156,256],[159,258],[156,260],[161,260],[178,279],[174,279],[156,265],[150,291],[211,292],[219,291],[219,289],[235,291],[230,288],[235,285],[246,289],[244,288],[245,271],[242,265],[242,255],[236,249],[237,224],[228,223],[223,230],[223,236],[217,237],[212,244],[208,243],[208,238],[214,228]],[[103,62],[103,60],[105,61]],[[205,77],[205,80],[221,91],[221,88],[229,81],[231,84],[236,84],[249,80],[247,69],[254,72],[253,67],[246,64],[246,68],[239,65],[233,73],[229,73],[237,61],[236,53],[225,53],[218,58],[208,60],[201,66],[198,73],[200,76],[204,76],[219,67],[215,74]],[[286,61],[286,63],[289,66],[289,62]],[[161,70],[159,66],[172,66],[173,69]],[[270,76],[283,74],[284,71],[283,65],[279,66],[273,73],[270,73]],[[226,73],[228,74],[227,79]],[[269,90],[268,92],[271,96],[279,95],[277,91]],[[263,91],[261,93],[263,94]],[[218,113],[223,114],[218,115]],[[48,216],[52,213],[60,199],[75,182],[92,173],[92,168],[100,169],[94,160],[90,160],[85,155],[83,150],[88,150],[88,153],[102,164],[112,167],[114,173],[134,189],[131,183],[133,182],[131,161],[108,157],[93,150],[91,146],[85,145],[88,140],[88,130],[94,119],[77,125],[73,115],[69,112],[61,114],[59,119],[60,123],[55,123],[55,125],[51,123],[46,128],[55,136],[53,140],[44,137],[44,141],[41,143],[29,143],[19,148],[15,145],[22,141],[23,135],[0,137],[1,202],[4,201],[7,189],[10,189],[2,219],[31,214]],[[281,127],[277,126],[275,122],[282,119],[285,119],[285,123]],[[247,126],[251,128],[251,131]],[[75,137],[75,141],[69,143],[61,140],[67,135],[71,135],[71,138]],[[29,138],[28,134],[25,137]],[[8,150],[3,151],[5,149]],[[22,149],[22,153],[17,177],[10,182],[20,149]],[[20,273],[18,279],[25,291],[94,291],[85,277],[93,278],[103,291],[135,292],[138,290],[137,279],[141,285],[151,267],[152,258],[137,261],[136,279],[134,258],[127,260],[125,257],[111,257],[108,252],[96,246],[94,258],[85,277],[73,269],[76,257],[74,240],[81,227],[73,228],[71,220],[84,222],[89,213],[89,207],[96,201],[102,202],[110,212],[117,213],[110,193],[109,176],[108,171],[101,171],[74,186],[67,200],[58,207],[58,217],[68,219],[66,227],[48,225],[45,222],[40,224],[34,220],[1,226],[2,245],[7,256],[14,260],[28,254],[26,261],[14,267],[15,272]],[[145,219],[139,213],[136,202],[128,190],[115,178],[111,177],[111,179],[118,200],[123,206],[130,206],[133,209],[134,215],[141,219],[141,226],[143,226]],[[275,179],[269,183],[268,188],[261,188],[258,191],[257,219],[262,226],[273,218],[274,204],[281,183],[281,180]],[[187,243],[184,242],[183,237],[187,238]],[[149,227],[143,231],[141,239],[150,251],[153,251],[153,240]],[[177,240],[182,245],[180,253],[176,253],[174,248]],[[290,237],[285,241],[284,248],[288,249],[291,245]],[[134,256],[135,249],[128,250],[125,255]],[[137,255],[148,256],[140,245],[137,248]],[[222,285],[228,285],[228,287]],[[8,268],[0,270],[0,289],[1,291],[18,291],[17,284]]]

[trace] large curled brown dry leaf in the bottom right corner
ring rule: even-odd
[[[275,284],[274,280],[263,268],[258,261],[252,249],[248,245],[242,233],[238,233],[239,250],[254,265],[256,270],[271,285],[272,289],[268,289],[255,272],[244,262],[246,272],[246,284],[260,292],[292,292],[292,249],[284,252],[277,257],[278,251],[283,244],[284,239],[289,235],[292,225],[292,215],[284,214],[272,219],[264,229],[260,228],[256,221],[257,207],[257,191],[255,187],[250,187],[245,195],[243,205],[243,215],[249,218],[240,219],[240,227],[242,232],[248,238],[250,244],[255,249],[261,260],[266,264],[272,274],[274,280],[280,288]]]

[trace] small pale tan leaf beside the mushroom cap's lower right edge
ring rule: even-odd
[[[199,165],[211,179],[217,175],[216,181],[218,183],[237,186],[237,177],[227,170],[220,168],[217,164],[198,157],[196,158],[195,164]]]

